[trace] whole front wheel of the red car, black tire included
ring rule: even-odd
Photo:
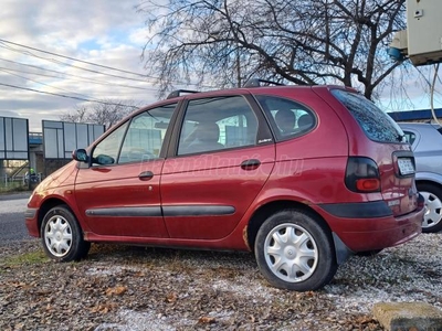
[[[66,205],[55,206],[44,215],[41,237],[46,255],[57,261],[80,260],[91,248],[91,243],[83,239],[78,222]]]

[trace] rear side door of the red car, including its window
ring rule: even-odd
[[[193,97],[187,103],[173,156],[165,161],[161,200],[171,238],[228,236],[267,180],[275,148],[248,95]],[[170,152],[169,149],[169,152]]]

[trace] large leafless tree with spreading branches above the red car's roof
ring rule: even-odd
[[[387,55],[406,0],[147,0],[143,56],[162,92],[177,82],[231,87],[252,76],[344,84],[376,97],[399,65]]]

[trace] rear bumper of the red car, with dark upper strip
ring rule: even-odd
[[[332,231],[340,238],[340,241],[354,253],[382,249],[387,247],[403,244],[422,232],[422,220],[424,214],[423,204],[411,213],[394,217],[388,212],[385,202],[357,204],[360,209],[358,217],[355,217],[355,205],[340,205],[338,215],[333,213],[336,206],[322,207],[323,213]],[[332,212],[332,213],[330,213]],[[354,217],[343,217],[343,215],[351,215]]]

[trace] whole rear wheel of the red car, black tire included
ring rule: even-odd
[[[254,248],[262,275],[277,288],[316,290],[337,270],[330,232],[318,216],[305,211],[271,215],[260,227]]]

